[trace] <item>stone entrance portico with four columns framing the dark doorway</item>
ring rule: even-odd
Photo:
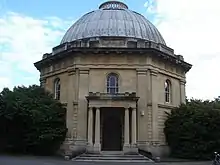
[[[136,93],[89,93],[88,151],[137,151]]]

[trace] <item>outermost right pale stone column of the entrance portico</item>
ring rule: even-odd
[[[132,108],[132,136],[131,136],[131,144],[132,146],[136,145],[137,139],[137,116],[136,116],[136,108]]]

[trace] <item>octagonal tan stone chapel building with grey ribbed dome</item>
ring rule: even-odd
[[[35,66],[41,85],[66,105],[66,151],[168,153],[165,112],[185,103],[192,65],[143,15],[107,1]]]

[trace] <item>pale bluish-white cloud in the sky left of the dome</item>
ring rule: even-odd
[[[7,12],[0,16],[0,89],[37,83],[33,63],[59,44],[71,20],[32,18]]]

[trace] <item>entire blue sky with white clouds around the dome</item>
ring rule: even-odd
[[[0,90],[39,84],[33,63],[59,45],[66,30],[103,0],[0,0]],[[188,98],[220,96],[219,0],[124,0],[193,65]]]

